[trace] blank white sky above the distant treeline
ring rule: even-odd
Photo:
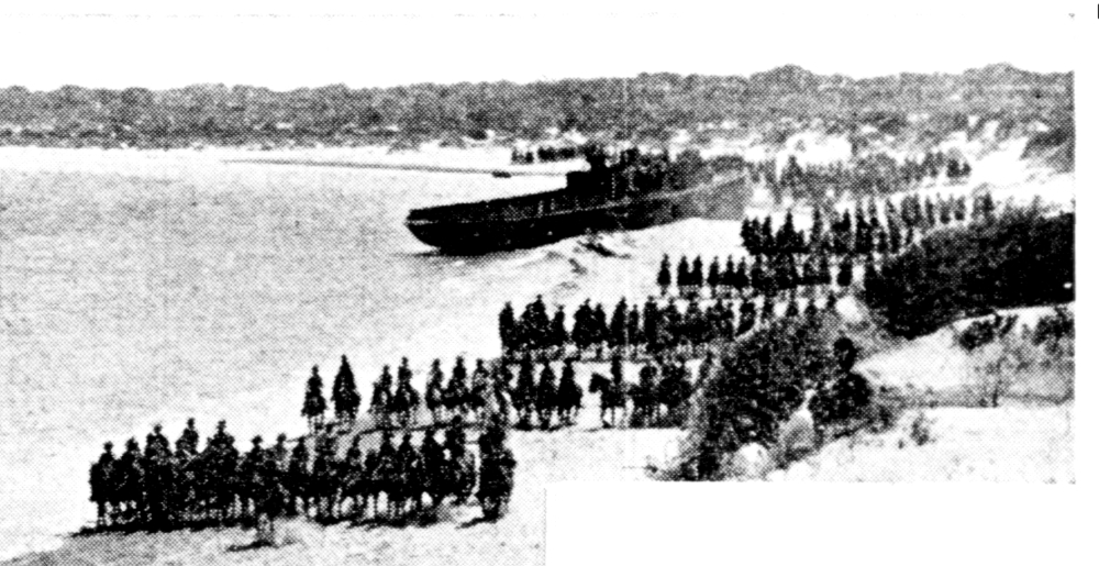
[[[785,64],[856,78],[991,63],[1064,71],[1075,67],[1081,26],[1074,24],[1084,20],[1070,18],[1074,2],[1065,1],[528,4],[5,2],[0,87],[222,82],[287,90],[645,71],[750,75]],[[1092,15],[1094,4],[1080,8]]]

